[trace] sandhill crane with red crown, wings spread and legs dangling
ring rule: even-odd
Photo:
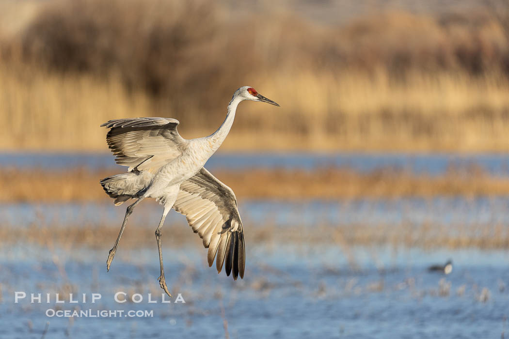
[[[186,140],[177,132],[179,121],[172,118],[144,117],[109,120],[101,127],[110,129],[106,136],[116,163],[128,166],[128,172],[102,179],[106,193],[120,205],[129,199],[136,201],[126,209],[124,222],[115,245],[109,251],[106,269],[109,271],[120,238],[134,207],[145,198],[155,198],[164,206],[161,221],[155,231],[159,248],[161,275],[159,285],[170,297],[162,262],[161,227],[172,207],[186,216],[194,233],[208,248],[208,263],[216,259],[217,272],[223,262],[233,279],[244,277],[244,233],[232,189],[215,178],[203,166],[227,137],[241,101],[277,103],[258,94],[249,86],[237,89],[228,105],[222,125],[208,137]]]

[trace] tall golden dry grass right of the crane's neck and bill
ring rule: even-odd
[[[284,90],[288,83],[291,92]],[[281,108],[267,116],[246,105],[239,119],[247,115],[251,123],[233,129],[234,145],[251,140],[253,148],[263,149],[509,149],[509,81],[500,74],[413,72],[401,82],[386,71],[309,72],[276,77],[260,87]],[[262,138],[249,133],[253,125],[260,126],[256,135]]]

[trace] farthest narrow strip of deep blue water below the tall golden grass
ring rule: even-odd
[[[414,173],[438,175],[450,167],[478,166],[490,174],[509,175],[509,155],[454,153],[217,153],[206,164],[218,168],[286,168],[311,170],[320,167],[347,167],[370,172],[380,168],[405,169]],[[117,167],[108,153],[0,153],[0,166],[24,168],[89,169]]]

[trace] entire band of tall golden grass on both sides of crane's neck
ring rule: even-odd
[[[383,72],[375,78],[300,73],[259,84],[281,107],[243,103],[222,149],[509,149],[509,83],[496,74],[414,74],[398,83]],[[186,138],[209,135],[222,120],[186,113],[142,91],[129,93],[115,78],[0,66],[3,150],[105,150],[99,125],[120,117],[174,116]]]

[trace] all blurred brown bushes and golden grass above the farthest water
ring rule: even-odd
[[[224,149],[509,149],[509,4],[327,24],[198,0],[8,4],[28,14],[0,25],[2,149],[105,149],[99,124],[134,116],[203,136],[246,84],[281,107],[241,105]]]

